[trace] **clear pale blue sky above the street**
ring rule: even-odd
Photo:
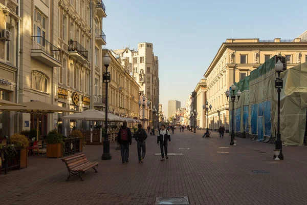
[[[103,0],[106,48],[153,44],[160,103],[186,99],[226,38],[293,39],[307,30],[305,1]],[[284,26],[283,26],[284,25]]]

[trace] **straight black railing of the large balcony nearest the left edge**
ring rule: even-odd
[[[61,51],[42,36],[31,36],[31,50],[41,50],[54,59],[61,61]]]

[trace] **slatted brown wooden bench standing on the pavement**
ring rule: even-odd
[[[62,161],[65,162],[66,167],[69,172],[67,181],[69,181],[69,178],[71,176],[77,175],[77,174],[79,174],[78,176],[81,178],[81,181],[83,181],[80,174],[83,174],[86,170],[89,170],[91,168],[93,168],[95,172],[97,172],[97,170],[95,169],[95,166],[98,166],[98,162],[97,161],[90,162],[89,160],[87,160],[86,156],[82,153],[62,158]]]

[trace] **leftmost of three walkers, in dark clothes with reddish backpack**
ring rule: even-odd
[[[123,122],[123,126],[119,129],[117,140],[120,144],[120,152],[122,156],[122,162],[129,162],[129,144],[132,143],[131,131],[127,128],[127,122]]]

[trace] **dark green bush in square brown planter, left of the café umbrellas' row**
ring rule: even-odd
[[[47,157],[59,158],[63,155],[63,138],[56,130],[47,134]]]

